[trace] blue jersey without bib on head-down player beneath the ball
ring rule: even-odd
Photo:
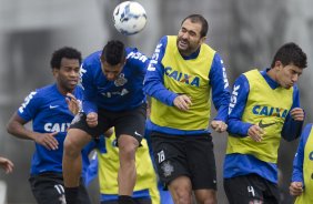
[[[108,81],[101,70],[101,51],[87,57],[81,65],[81,85],[84,89],[83,111],[98,112],[132,110],[145,103],[143,79],[149,59],[135,48],[127,48],[127,61],[119,78]]]

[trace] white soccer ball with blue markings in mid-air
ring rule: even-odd
[[[113,21],[117,30],[122,34],[135,34],[147,23],[145,10],[135,1],[124,1],[115,7]]]

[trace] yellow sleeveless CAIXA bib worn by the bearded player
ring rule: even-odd
[[[183,112],[152,98],[151,121],[160,126],[179,130],[204,130],[211,111],[209,73],[215,51],[202,44],[198,58],[184,60],[176,48],[176,37],[168,37],[162,64],[164,86],[174,93],[186,94],[192,105]]]

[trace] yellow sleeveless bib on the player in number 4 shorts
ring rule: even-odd
[[[276,163],[281,132],[293,102],[293,88],[272,90],[258,70],[245,72],[250,85],[243,122],[259,124],[264,131],[262,142],[254,142],[250,136],[229,136],[226,154],[250,154],[256,159]]]

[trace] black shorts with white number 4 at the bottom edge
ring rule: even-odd
[[[230,204],[280,203],[277,185],[258,174],[224,178],[224,190]]]

